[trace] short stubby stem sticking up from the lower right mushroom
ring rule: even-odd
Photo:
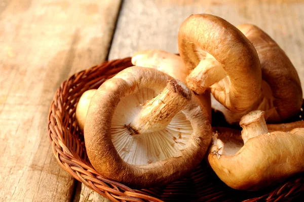
[[[240,126],[243,128],[242,139],[244,141],[244,144],[250,138],[268,133],[264,111],[255,110],[244,115],[241,118]]]

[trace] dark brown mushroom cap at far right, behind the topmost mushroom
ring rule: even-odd
[[[262,80],[271,89],[271,92],[264,92],[264,96],[269,97],[273,107],[272,112],[268,113],[267,120],[281,122],[296,115],[303,101],[302,88],[298,74],[288,56],[267,33],[257,26],[242,24],[237,28],[256,49],[262,68]]]

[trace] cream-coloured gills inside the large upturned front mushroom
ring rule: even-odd
[[[113,114],[111,139],[120,157],[129,164],[144,165],[178,157],[180,150],[187,148],[193,128],[182,111],[162,130],[133,134],[128,129],[128,124],[141,111],[141,105],[158,93],[149,88],[139,89],[137,93],[122,98]]]

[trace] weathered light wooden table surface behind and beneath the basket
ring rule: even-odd
[[[0,200],[106,201],[54,158],[47,140],[52,97],[68,76],[103,60],[141,49],[176,53],[178,27],[194,13],[264,29],[304,87],[300,0],[0,0]]]

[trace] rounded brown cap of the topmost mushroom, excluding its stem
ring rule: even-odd
[[[229,92],[224,79],[212,85],[211,92],[226,108],[242,112],[258,99],[261,68],[257,53],[243,33],[229,22],[209,14],[191,15],[179,28],[178,48],[189,70],[199,64],[202,51],[221,64],[227,73]]]

